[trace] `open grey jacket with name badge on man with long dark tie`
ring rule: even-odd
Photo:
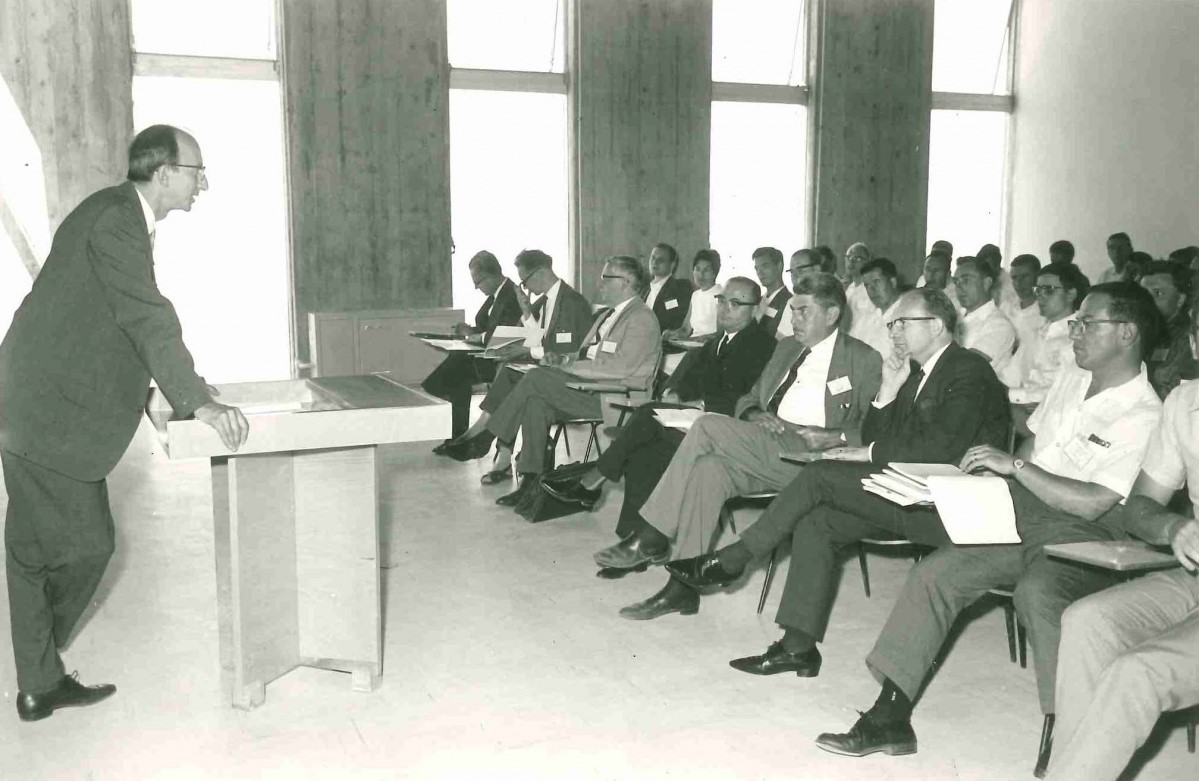
[[[846,443],[860,445],[862,419],[870,409],[870,402],[879,395],[879,384],[882,382],[882,359],[873,347],[858,342],[844,331],[837,331],[836,338],[829,364],[829,385],[825,386],[825,428],[840,429]],[[761,377],[748,393],[737,399],[734,410],[736,416],[742,417],[754,408],[766,409],[771,396],[787,379],[802,352],[803,343],[794,336],[779,340]],[[843,378],[849,378],[848,389],[838,383]]]

